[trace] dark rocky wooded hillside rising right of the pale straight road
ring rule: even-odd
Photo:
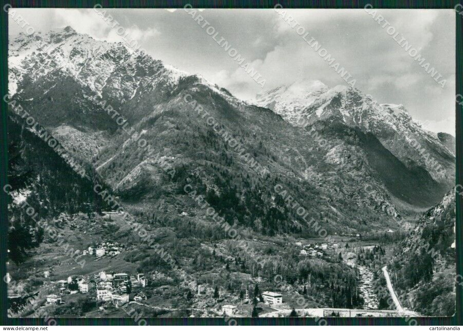
[[[402,302],[425,316],[455,312],[455,192],[421,216],[394,252]],[[458,286],[458,285],[456,285]]]

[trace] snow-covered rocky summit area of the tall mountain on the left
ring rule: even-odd
[[[140,84],[152,87],[159,81],[175,84],[188,76],[175,67],[164,66],[143,51],[132,50],[123,43],[95,40],[70,26],[45,34],[19,34],[11,38],[8,66],[10,94],[20,92],[26,75],[31,81],[37,81],[59,71],[99,96],[109,84],[125,91],[121,100],[131,100]]]

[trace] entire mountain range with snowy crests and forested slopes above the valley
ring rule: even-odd
[[[178,187],[193,176],[205,194],[214,189],[218,197],[230,194],[240,201],[238,211],[223,210],[231,224],[261,229],[262,222],[276,231],[307,231],[282,201],[276,205],[279,212],[272,209],[275,205],[269,202],[277,198],[272,183],[277,181],[328,230],[369,231],[372,222],[385,226],[393,222],[387,220],[391,216],[407,212],[395,200],[410,205],[408,210],[423,208],[448,190],[453,163],[442,144],[429,134],[419,137],[421,131],[400,107],[377,105],[357,90],[330,89],[315,82],[292,105],[294,116],[285,118],[286,104],[280,113],[275,107],[272,112],[270,106],[250,105],[200,76],[69,27],[12,39],[10,58],[14,98],[63,146],[91,163],[118,195],[137,201],[145,211],[165,206],[168,200],[175,209],[191,208]],[[289,102],[300,89],[276,92],[288,93],[283,99]],[[269,169],[268,178],[256,178],[218,130],[185,102],[187,95]],[[121,129],[107,105],[150,144],[149,152]],[[378,108],[390,120],[385,130],[374,116]],[[305,128],[295,122],[300,113],[307,115]],[[420,142],[430,141],[424,147],[437,150],[432,155],[439,156],[442,174],[432,171],[411,147],[413,158],[404,156],[406,143],[398,128],[413,129]],[[169,180],[159,160],[181,175]],[[251,207],[255,203],[269,206],[257,211]]]

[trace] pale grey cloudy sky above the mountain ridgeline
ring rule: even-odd
[[[101,10],[101,9],[100,9]],[[203,75],[241,99],[261,86],[183,9],[108,9],[147,52],[191,74]],[[67,25],[77,32],[119,42],[115,29],[93,9],[20,9],[35,31]],[[438,85],[386,29],[363,9],[294,9],[295,20],[336,58],[355,87],[380,103],[403,104],[432,131],[455,135],[455,11],[378,10],[400,37],[419,51],[442,78]],[[294,81],[346,82],[273,9],[205,9],[203,16],[266,80],[264,89]],[[384,24],[384,23],[382,23]],[[9,23],[10,35],[24,32]]]

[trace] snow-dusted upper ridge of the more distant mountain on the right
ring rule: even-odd
[[[267,107],[294,126],[313,125],[318,121],[338,121],[373,134],[392,154],[405,164],[423,166],[437,181],[448,178],[438,161],[453,162],[437,134],[429,132],[412,119],[401,104],[379,104],[356,88],[327,87],[315,81],[281,86],[257,95],[254,104]],[[438,150],[435,156],[423,150]]]

